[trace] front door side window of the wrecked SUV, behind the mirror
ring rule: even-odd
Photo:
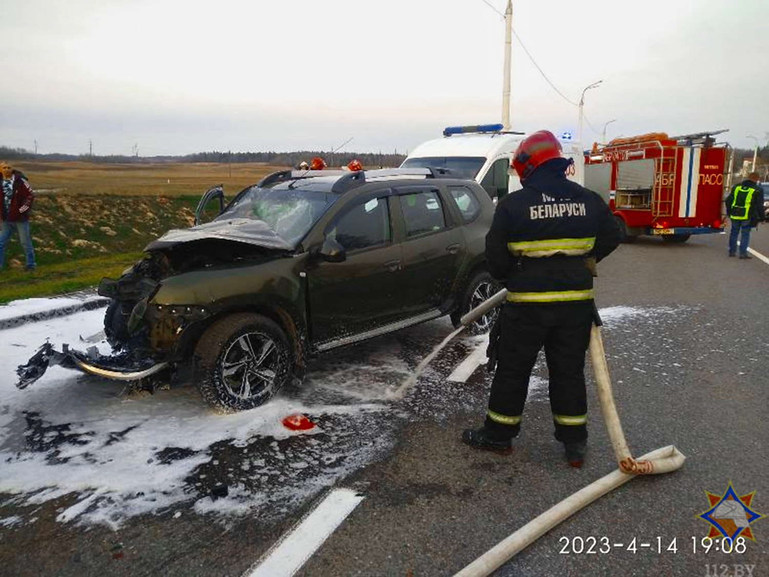
[[[371,198],[354,206],[326,233],[347,251],[383,245],[389,242],[390,211],[387,198]]]

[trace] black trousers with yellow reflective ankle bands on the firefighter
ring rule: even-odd
[[[484,428],[497,439],[521,430],[531,369],[544,347],[555,438],[578,442],[588,437],[584,358],[590,344],[593,302],[504,305],[498,365]]]

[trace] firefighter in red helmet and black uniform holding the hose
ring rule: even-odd
[[[489,272],[508,298],[498,318],[497,369],[481,429],[462,441],[508,454],[521,429],[531,369],[544,346],[555,438],[575,467],[584,461],[588,406],[584,357],[594,319],[591,265],[617,248],[620,231],[604,200],[566,178],[551,132],[518,145],[512,168],[523,188],[501,199],[486,235]],[[492,343],[491,346],[494,344]]]

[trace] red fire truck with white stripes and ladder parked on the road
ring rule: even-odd
[[[585,155],[584,185],[608,202],[625,242],[639,235],[686,242],[721,232],[731,175],[731,148],[714,138],[721,132],[652,132],[595,144]]]

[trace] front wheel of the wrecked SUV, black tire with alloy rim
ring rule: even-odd
[[[292,357],[285,332],[271,319],[251,313],[228,315],[198,340],[193,379],[203,399],[216,409],[253,409],[291,379]]]

